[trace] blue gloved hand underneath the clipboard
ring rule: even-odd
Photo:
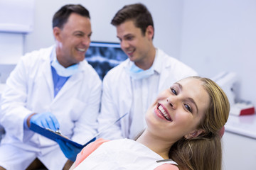
[[[62,150],[63,154],[65,154],[65,157],[75,162],[76,156],[79,152],[81,152],[82,148],[75,147],[74,145],[60,139],[56,140],[56,142],[58,145],[60,145],[60,149]]]

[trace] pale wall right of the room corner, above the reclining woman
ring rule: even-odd
[[[238,96],[256,105],[256,1],[185,0],[181,60],[199,74],[238,74]]]

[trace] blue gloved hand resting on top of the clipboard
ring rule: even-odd
[[[34,123],[43,128],[48,128],[50,130],[58,130],[60,129],[60,124],[58,123],[57,118],[53,113],[38,113],[31,117],[30,123]]]

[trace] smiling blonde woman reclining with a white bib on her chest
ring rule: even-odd
[[[82,149],[72,169],[220,170],[220,129],[230,105],[207,78],[188,77],[156,98],[136,141],[99,139]]]

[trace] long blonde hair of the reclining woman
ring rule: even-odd
[[[206,89],[210,103],[198,125],[204,132],[198,137],[178,140],[170,149],[169,157],[178,164],[179,169],[220,170],[222,166],[222,147],[220,129],[228,120],[230,104],[224,91],[214,81],[202,77],[199,79]]]

